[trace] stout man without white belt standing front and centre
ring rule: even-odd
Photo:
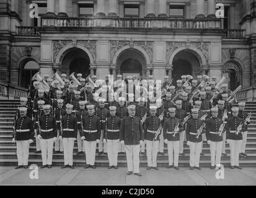
[[[121,144],[125,144],[128,166],[127,175],[135,173],[138,176],[142,176],[139,173],[139,144],[142,144],[144,140],[143,127],[141,119],[135,116],[135,111],[135,105],[128,106],[129,116],[121,120],[120,141]]]

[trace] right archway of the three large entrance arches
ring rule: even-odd
[[[184,49],[174,56],[172,61],[172,83],[176,86],[176,81],[182,75],[192,75],[194,78],[200,74],[200,62],[191,50]]]

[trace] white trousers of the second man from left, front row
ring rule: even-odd
[[[44,165],[51,165],[53,161],[53,138],[40,139],[40,146],[42,149],[42,160]]]

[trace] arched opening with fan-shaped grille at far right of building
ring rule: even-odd
[[[239,64],[234,61],[227,61],[223,65],[223,72],[229,77],[229,89],[231,91],[236,90],[239,85],[242,85],[242,70]]]

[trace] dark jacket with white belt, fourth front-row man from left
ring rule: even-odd
[[[95,141],[100,139],[100,118],[87,114],[82,118],[82,124],[84,126],[84,131],[80,131],[80,136],[86,137],[87,141]]]

